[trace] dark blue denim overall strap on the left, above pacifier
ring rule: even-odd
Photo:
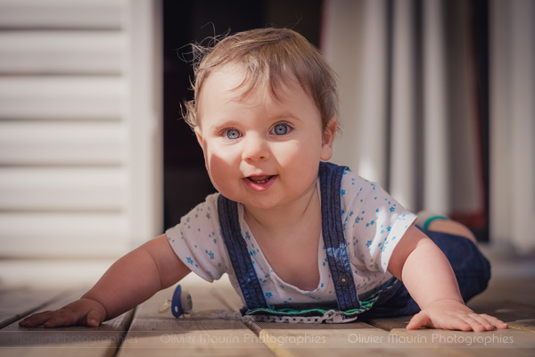
[[[242,236],[237,203],[219,195],[218,215],[226,251],[235,270],[248,309],[268,308],[262,287]]]

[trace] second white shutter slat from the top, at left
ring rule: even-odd
[[[0,32],[0,73],[119,74],[125,42],[119,31]]]

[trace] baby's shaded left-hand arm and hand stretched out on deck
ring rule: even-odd
[[[97,327],[172,286],[191,270],[178,259],[166,235],[156,237],[111,265],[79,300],[56,311],[21,320],[22,327],[56,328],[71,325]]]

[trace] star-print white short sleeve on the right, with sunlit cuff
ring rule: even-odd
[[[342,179],[342,222],[350,260],[359,275],[387,272],[391,254],[416,220],[378,184],[345,171]]]

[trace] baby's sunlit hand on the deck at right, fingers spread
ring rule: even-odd
[[[424,310],[413,316],[407,329],[417,328],[481,332],[491,331],[494,328],[507,328],[507,324],[493,316],[477,314],[466,307],[464,303],[455,300],[440,300],[430,303]]]

